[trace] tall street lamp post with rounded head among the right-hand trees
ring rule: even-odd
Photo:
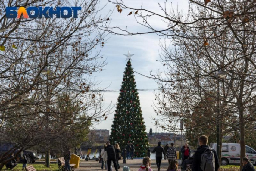
[[[218,106],[218,114],[217,114],[217,146],[216,146],[216,152],[217,156],[219,158],[220,162],[220,156],[221,156],[221,148],[220,148],[220,79],[223,79],[226,77],[226,73],[219,70],[217,74],[214,74],[214,77],[216,77],[217,80],[217,106]],[[220,79],[219,79],[220,78]]]

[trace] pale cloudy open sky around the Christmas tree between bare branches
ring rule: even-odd
[[[171,6],[175,9],[184,12],[188,9],[187,0],[123,0],[123,2],[134,8],[139,8],[143,3],[143,8],[153,10],[158,13],[162,13],[161,9],[158,6],[158,2],[161,5],[164,5],[164,2],[167,3],[167,7]],[[100,6],[107,4],[107,0],[101,0]],[[131,10],[123,10],[122,13],[118,13],[115,6],[111,3],[108,3],[104,8],[104,13],[108,13],[109,10],[113,10],[111,15],[111,26],[119,26],[121,28],[126,28],[131,31],[142,32],[147,30],[145,27],[139,26],[133,15],[127,16]],[[151,25],[157,26],[159,29],[166,28],[167,25],[164,24],[161,20],[157,18],[151,18]],[[107,42],[104,44],[104,48],[101,51],[101,54],[107,58],[108,64],[104,67],[101,73],[96,74],[96,79],[101,82],[99,85],[102,88],[108,87],[107,89],[120,89],[123,72],[126,67],[126,57],[123,54],[127,54],[128,51],[131,54],[134,54],[132,57],[132,67],[134,71],[149,75],[149,72],[152,70],[152,73],[156,73],[158,69],[161,69],[163,66],[157,60],[159,57],[159,42],[163,37],[156,34],[145,34],[145,35],[136,35],[136,36],[120,36],[120,35],[110,35]],[[152,79],[148,79],[144,76],[141,76],[135,73],[135,81],[137,83],[137,89],[148,89],[148,88],[158,88],[156,82]],[[112,101],[114,104],[117,103],[117,98],[119,92],[104,92],[105,97],[105,106],[110,104]],[[142,115],[144,117],[145,125],[147,132],[150,128],[153,128],[155,132],[153,117],[156,116],[153,109],[153,101],[155,95],[153,91],[139,91],[139,99],[142,109]],[[114,118],[114,110],[111,115],[108,116],[108,119],[96,126],[93,129],[111,129],[111,124]],[[164,132],[160,128],[157,129],[157,132]]]

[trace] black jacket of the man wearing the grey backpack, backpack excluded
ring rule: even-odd
[[[206,149],[211,149],[208,145],[201,145],[198,147],[197,151],[195,151],[194,154],[194,159],[193,159],[193,166],[192,166],[192,171],[202,171],[200,168],[201,165],[201,155],[204,153]],[[219,159],[217,157],[216,151],[214,149],[211,149],[214,158],[215,158],[215,171],[218,171],[219,169]]]

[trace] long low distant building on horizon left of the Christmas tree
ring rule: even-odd
[[[89,141],[93,143],[106,142],[109,139],[109,130],[107,129],[94,129],[87,135]]]

